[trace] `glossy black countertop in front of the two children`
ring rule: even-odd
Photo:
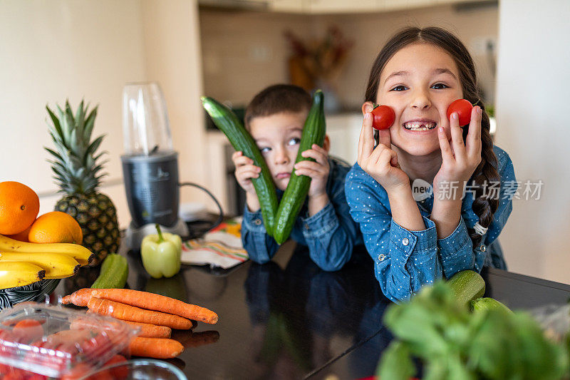
[[[165,294],[214,310],[219,322],[175,332],[187,349],[168,360],[189,379],[359,379],[374,374],[392,338],[383,328],[390,305],[373,276],[373,261],[357,247],[338,272],[323,272],[303,247],[286,242],[266,265],[228,270],[183,266],[152,279],[138,252],[125,252],[128,287]],[[89,286],[98,268],[63,279],[56,294]],[[512,309],[563,304],[570,286],[497,269],[482,273],[487,297]]]

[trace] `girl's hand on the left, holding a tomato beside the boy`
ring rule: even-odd
[[[374,148],[372,113],[364,115],[361,136],[358,139],[358,165],[371,175],[386,192],[410,188],[410,178],[398,164],[398,154],[390,143],[390,130],[379,130],[379,144]]]

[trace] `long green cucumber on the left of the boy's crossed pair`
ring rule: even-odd
[[[254,165],[261,168],[258,178],[252,178],[252,183],[261,205],[261,215],[265,230],[273,236],[275,212],[277,210],[277,194],[275,185],[269,173],[269,168],[261,152],[257,148],[252,135],[247,132],[235,113],[212,98],[202,96],[202,106],[210,115],[214,124],[227,136],[235,150],[254,160]]]

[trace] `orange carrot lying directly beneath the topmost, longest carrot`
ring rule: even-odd
[[[167,313],[152,312],[108,299],[91,297],[87,307],[97,314],[110,315],[117,319],[123,319],[123,321],[158,324],[172,329],[190,329],[192,327],[190,319]]]

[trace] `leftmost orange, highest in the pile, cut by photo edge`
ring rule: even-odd
[[[40,198],[23,183],[0,182],[0,234],[14,235],[28,228],[40,211]]]

